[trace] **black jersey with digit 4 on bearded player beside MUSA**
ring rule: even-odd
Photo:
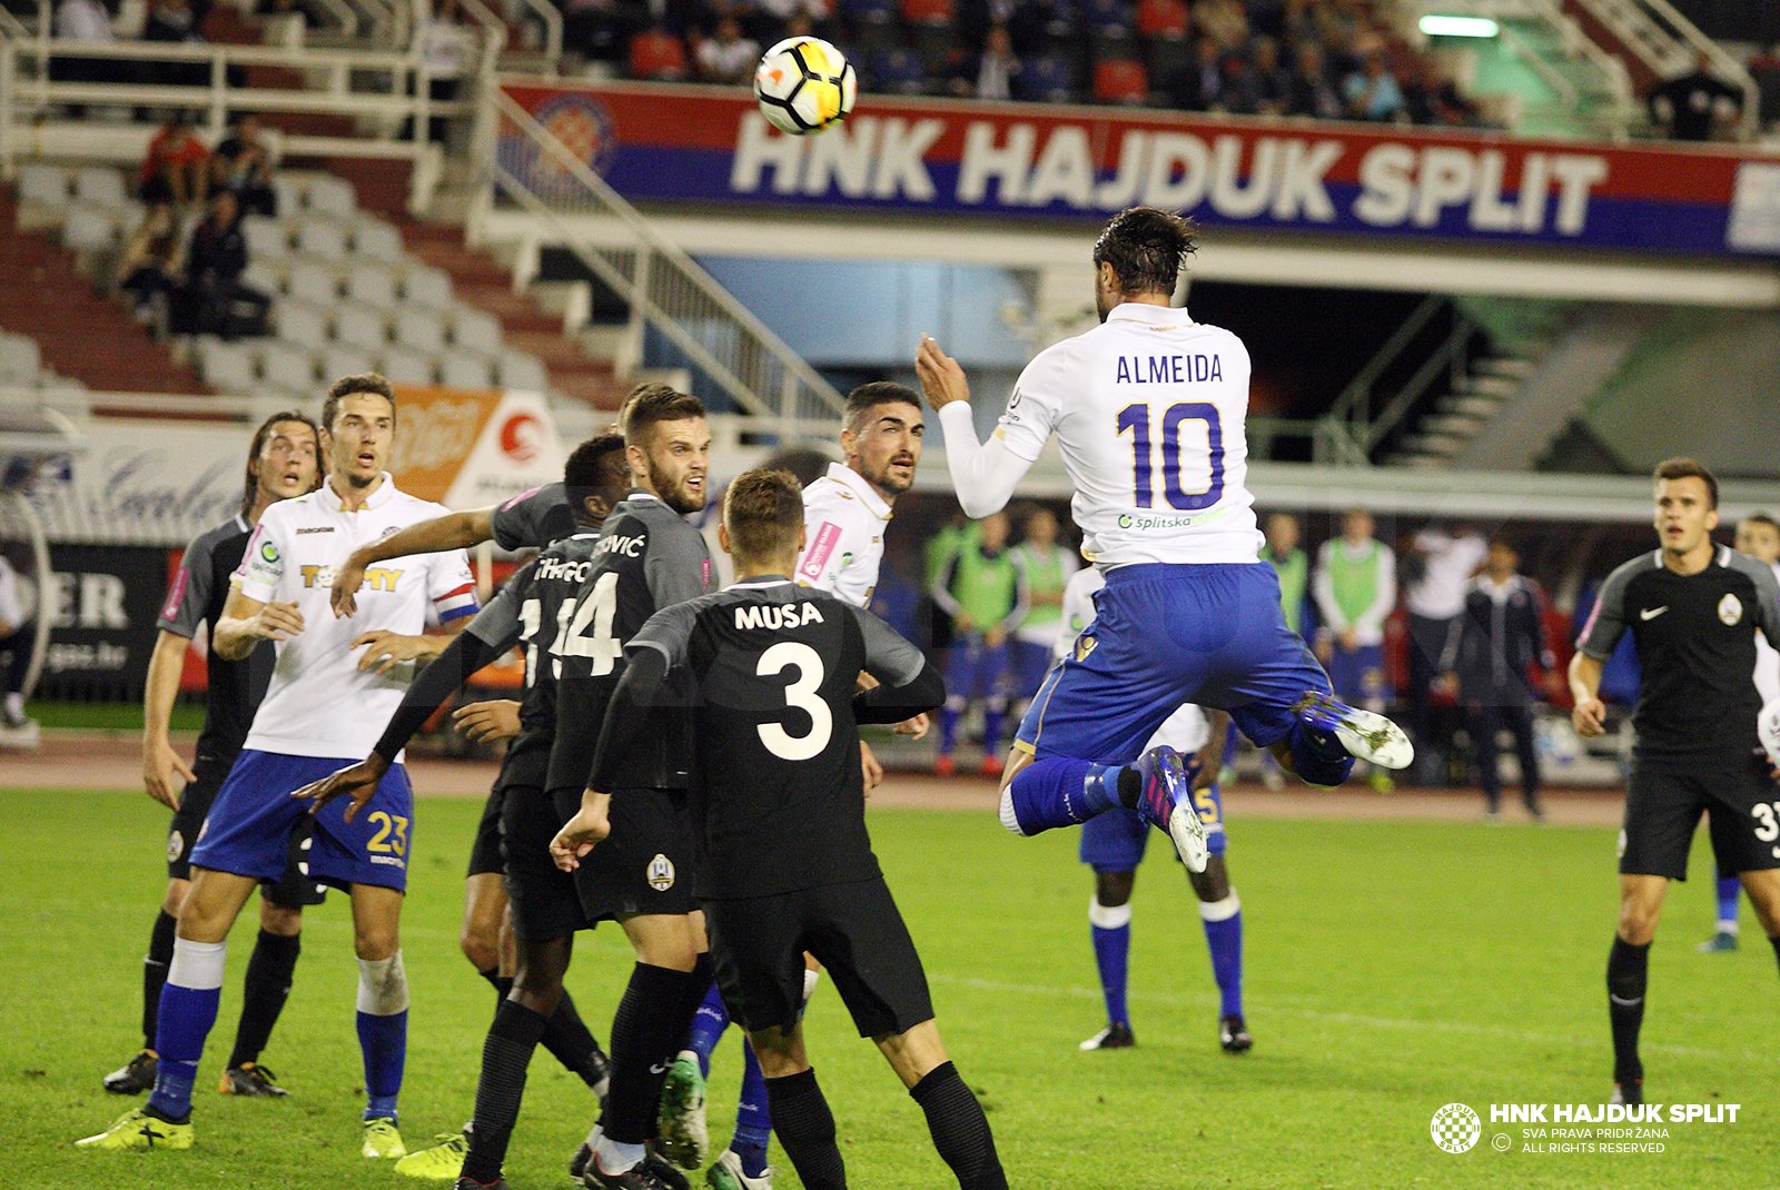
[[[710,591],[705,535],[657,496],[632,491],[605,518],[575,617],[557,653],[557,731],[546,788],[584,788],[605,706],[625,676],[625,642],[657,610]],[[691,747],[685,717],[662,713],[627,756],[625,788],[684,790]]]

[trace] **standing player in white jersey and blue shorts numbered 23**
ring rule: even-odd
[[[429,607],[454,630],[477,610],[470,562],[457,550],[392,560],[368,576],[370,591],[356,615],[329,614],[331,571],[354,546],[443,511],[395,489],[384,471],[393,438],[388,381],[336,381],[322,406],[328,482],[269,507],[247,541],[210,647],[239,660],[262,640],[274,640],[278,663],[192,848],[192,891],[180,909],[160,993],[155,1090],[146,1106],[82,1140],[85,1147],[190,1147],[192,1083],[215,1023],[228,930],[255,886],[285,872],[290,834],[310,809],[290,795],[370,752],[377,724],[402,701],[413,676],[409,662],[434,656],[447,644],[447,637],[422,635]],[[395,1099],[408,1049],[399,927],[415,813],[406,770],[390,768],[365,809],[356,809],[336,804],[313,815],[310,875],[344,888],[352,900],[358,1039],[368,1099],[360,1151],[367,1158],[399,1158],[406,1149]]]

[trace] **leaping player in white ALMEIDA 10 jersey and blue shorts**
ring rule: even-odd
[[[1002,825],[1036,834],[1123,806],[1203,872],[1198,763],[1168,745],[1143,751],[1182,703],[1230,712],[1310,784],[1340,784],[1355,758],[1403,768],[1413,749],[1383,715],[1337,701],[1285,624],[1244,486],[1248,350],[1169,306],[1193,235],[1185,219],[1148,206],[1107,224],[1093,253],[1102,324],[1025,366],[986,443],[958,361],[922,336],[915,366],[965,514],[1004,507],[1057,434],[1082,551],[1107,580],[1095,623],[1015,736]]]

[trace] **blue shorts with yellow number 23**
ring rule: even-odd
[[[356,763],[244,749],[198,832],[192,866],[276,880],[285,872],[290,831],[310,813],[310,802],[290,797],[292,790]],[[406,891],[415,822],[408,768],[392,765],[352,822],[345,820],[349,804],[336,797],[315,811],[310,879],[335,888],[379,884]]]

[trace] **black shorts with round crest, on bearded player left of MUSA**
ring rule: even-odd
[[[562,822],[580,790],[557,790]],[[614,790],[612,834],[575,868],[587,923],[644,913],[692,913],[692,824],[684,790]]]

